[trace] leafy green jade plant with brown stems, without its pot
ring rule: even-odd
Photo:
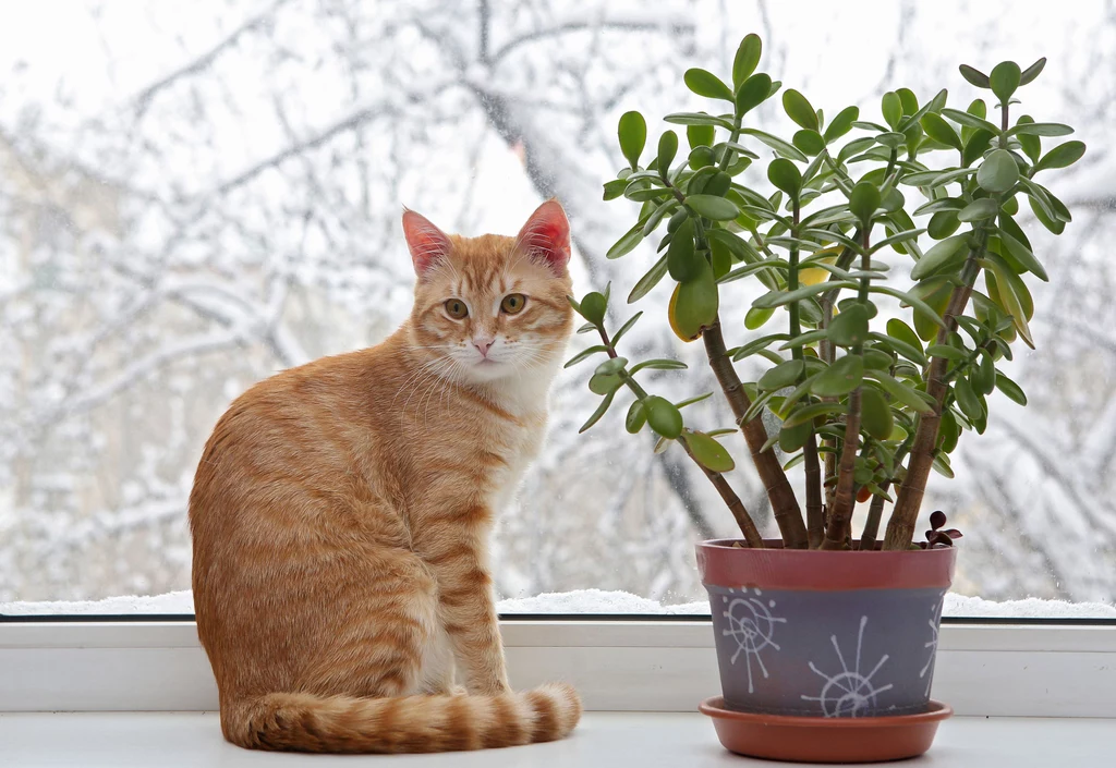
[[[671,328],[704,345],[735,428],[702,432],[686,424],[683,409],[711,393],[672,403],[648,391],[641,371],[685,365],[623,356],[620,342],[642,313],[609,333],[606,289],[570,299],[586,320],[580,330],[600,343],[567,365],[607,355],[589,378],[603,400],[583,431],[618,392],[631,392],[627,431],[654,431],[656,450],[677,443],[715,486],[747,546],[764,545],[724,477],[735,464],[719,440],[737,429],[785,547],[852,548],[854,509],[869,499],[862,548],[920,546],[913,536],[931,470],[952,476],[950,454],[962,432],[984,432],[993,390],[1026,404],[1001,365],[1017,340],[1033,346],[1033,304],[1022,276],[1048,278],[1019,225],[1020,202],[1061,234],[1069,211],[1041,181],[1080,159],[1085,145],[1045,147],[1043,140],[1072,128],[1017,115],[1017,92],[1046,59],[1026,69],[1003,61],[988,75],[962,66],[965,80],[989,92],[979,95],[991,107],[985,98],[951,107],[944,89],[920,102],[898,88],[883,95],[878,117],[862,118],[849,106],[826,119],[804,94],[756,71],[760,51],[757,36],[742,40],[731,86],[704,69],[685,73],[690,90],[712,100],[710,112],[664,118],[685,126],[689,152],[665,129],[656,151],[645,153],[644,117],[624,114],[618,138],[627,165],[604,185],[605,200],[641,203],[638,221],[607,257],[620,258],[644,240],[661,253],[628,304],[665,278],[674,284]],[[789,137],[751,125],[757,107],[780,90],[798,126]],[[758,179],[776,191],[753,189]],[[758,280],[764,291],[749,307],[721,292],[742,279]],[[754,333],[729,347],[727,330]],[[751,356],[770,366],[758,381],[742,382],[734,364]],[[773,433],[764,412],[778,419]],[[797,464],[805,503],[787,476]],[[935,522],[921,546],[949,544],[956,534],[942,535],[944,520]]]

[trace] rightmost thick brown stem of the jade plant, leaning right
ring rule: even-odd
[[[980,268],[977,259],[984,253],[984,241],[977,250],[969,252],[969,259],[962,271],[961,285],[953,289],[950,303],[945,307],[945,328],[939,328],[937,343],[946,344],[949,335],[958,327],[956,317],[969,306],[973,292],[973,284]],[[887,521],[887,534],[884,537],[884,549],[907,549],[914,540],[914,528],[922,508],[922,497],[926,492],[926,480],[934,464],[934,448],[937,445],[937,429],[942,423],[942,407],[945,404],[945,393],[949,383],[944,380],[947,361],[944,357],[933,357],[926,378],[926,394],[934,399],[934,410],[918,416],[918,428],[915,430],[914,443],[911,445],[911,462],[907,464],[906,477],[899,486]]]

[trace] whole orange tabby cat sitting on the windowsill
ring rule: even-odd
[[[569,223],[549,201],[514,239],[403,230],[411,318],[253,386],[198,467],[198,633],[242,747],[507,747],[580,717],[568,685],[509,689],[485,561],[573,323]]]

